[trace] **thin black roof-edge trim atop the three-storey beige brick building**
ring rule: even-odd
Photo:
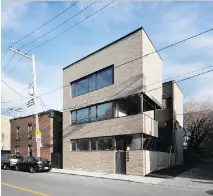
[[[71,63],[70,65],[64,67],[63,70],[65,70],[65,69],[71,67],[72,65],[74,65],[74,64],[76,64],[76,63],[78,63],[78,62],[80,62],[80,61],[85,60],[86,58],[88,58],[88,57],[94,55],[95,53],[100,52],[101,50],[104,50],[105,48],[107,48],[107,47],[109,47],[109,46],[111,46],[111,45],[113,45],[113,44],[115,44],[115,43],[121,41],[122,39],[125,39],[126,37],[128,37],[128,36],[130,36],[130,35],[132,35],[132,34],[134,34],[134,33],[136,33],[136,32],[138,32],[138,31],[140,31],[140,30],[142,30],[142,29],[143,29],[143,31],[146,33],[146,31],[144,30],[143,27],[139,27],[138,29],[136,29],[136,30],[134,30],[134,31],[132,31],[132,32],[130,32],[130,33],[128,33],[128,34],[126,34],[125,36],[123,36],[123,37],[121,37],[121,38],[119,38],[119,39],[117,39],[117,40],[115,40],[115,41],[113,41],[113,42],[107,44],[106,46],[104,46],[104,47],[102,47],[102,48],[100,48],[100,49],[98,49],[98,50],[96,50],[96,51],[90,53],[89,55],[87,55],[87,56],[85,56],[85,57],[83,57],[83,58],[81,58],[81,59],[75,61],[74,63]],[[147,33],[146,33],[146,35],[147,35]],[[148,35],[147,35],[147,37],[149,38]],[[155,46],[154,46],[154,44],[153,44],[153,42],[151,41],[150,38],[149,38],[149,40],[150,40],[150,42],[152,43],[153,47],[155,48]],[[157,51],[156,48],[155,48],[155,50],[156,50],[157,54],[159,55],[159,57],[161,58],[161,56],[160,56],[160,54],[158,53],[158,51]],[[162,60],[162,58],[161,58],[161,60]]]

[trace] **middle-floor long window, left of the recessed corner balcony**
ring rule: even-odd
[[[113,102],[98,104],[71,112],[72,125],[113,118]]]

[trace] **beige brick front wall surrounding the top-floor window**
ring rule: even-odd
[[[63,72],[63,107],[82,108],[142,91],[141,31],[89,56]],[[134,61],[133,61],[134,60]],[[70,82],[114,65],[114,84],[71,98]],[[71,124],[70,110],[64,110],[63,126]]]

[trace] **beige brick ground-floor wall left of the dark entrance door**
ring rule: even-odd
[[[69,152],[63,156],[64,169],[83,169],[104,173],[114,173],[115,152]]]

